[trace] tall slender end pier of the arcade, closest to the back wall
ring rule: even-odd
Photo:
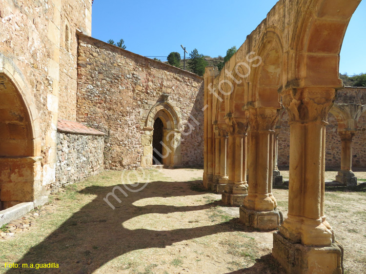
[[[204,110],[204,171],[203,171],[203,186],[206,189],[211,189],[213,183],[213,120],[212,120],[212,104],[213,95],[208,88],[213,84],[215,75],[214,66],[207,66],[204,73],[204,103],[207,106]]]

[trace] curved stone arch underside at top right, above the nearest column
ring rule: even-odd
[[[290,80],[304,86],[342,87],[339,60],[346,29],[361,0],[312,0],[293,29]],[[293,60],[296,60],[293,62]],[[295,63],[295,67],[291,65]]]

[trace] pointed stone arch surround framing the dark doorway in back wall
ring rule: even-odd
[[[163,153],[161,157],[164,167],[177,167],[182,163],[181,155],[181,123],[180,118],[174,107],[166,101],[156,103],[149,111],[146,121],[144,134],[142,135],[143,156],[141,166],[148,167],[153,164],[153,134],[154,122],[159,118],[163,122]]]

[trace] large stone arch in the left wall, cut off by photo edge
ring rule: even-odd
[[[0,56],[0,208],[41,194],[39,118],[19,69]]]

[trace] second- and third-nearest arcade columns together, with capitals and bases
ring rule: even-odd
[[[274,168],[274,124],[277,109],[256,108],[245,118],[226,115],[229,133],[228,182],[222,200],[240,207],[240,219],[246,225],[261,230],[276,229],[281,221],[277,202],[272,195]],[[249,186],[246,182],[246,142],[249,138]]]

